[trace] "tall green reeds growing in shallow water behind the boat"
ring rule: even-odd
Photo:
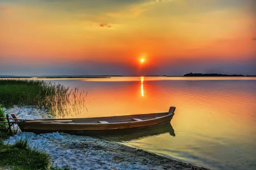
[[[85,95],[85,96],[84,96]],[[18,105],[45,107],[52,115],[80,112],[87,93],[61,84],[40,80],[1,79],[0,104],[5,108]],[[86,108],[86,107],[85,107]]]

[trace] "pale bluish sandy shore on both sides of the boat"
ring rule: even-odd
[[[20,111],[21,118],[51,118],[46,109],[34,107],[7,109],[6,113]],[[69,165],[72,170],[209,170],[194,164],[167,158],[114,141],[65,133],[17,133],[6,140],[10,144],[18,138],[30,136],[31,146],[44,149],[54,166]]]

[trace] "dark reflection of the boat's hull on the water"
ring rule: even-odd
[[[131,129],[122,132],[120,131],[120,133],[108,133],[106,135],[98,135],[97,137],[109,141],[122,142],[137,140],[140,138],[148,138],[161,134],[169,134],[170,136],[175,136],[175,132],[171,123],[157,125],[153,127],[134,128],[134,130]]]

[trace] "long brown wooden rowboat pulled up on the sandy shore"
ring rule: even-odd
[[[17,125],[23,132],[51,133],[63,132],[75,135],[92,135],[113,133],[120,130],[133,130],[135,128],[151,127],[170,123],[175,107],[170,107],[169,112],[148,113],[140,115],[110,116],[99,118],[69,118],[69,119],[34,119],[17,120]]]

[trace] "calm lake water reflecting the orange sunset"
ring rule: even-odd
[[[100,138],[212,170],[256,169],[256,78],[45,80],[88,92],[86,109],[67,117],[167,112],[176,107],[171,124]]]

